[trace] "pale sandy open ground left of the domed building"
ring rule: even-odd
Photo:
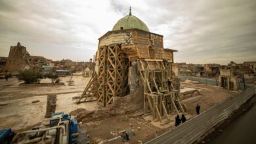
[[[38,125],[45,116],[47,94],[57,94],[56,111],[70,113],[78,108],[98,109],[96,102],[75,104],[75,96],[80,96],[89,78],[73,76],[74,84],[68,86],[71,76],[62,77],[65,86],[18,86],[16,78],[5,82],[0,80],[0,129],[24,130]],[[41,81],[51,82],[51,81]],[[38,103],[32,103],[34,100]]]

